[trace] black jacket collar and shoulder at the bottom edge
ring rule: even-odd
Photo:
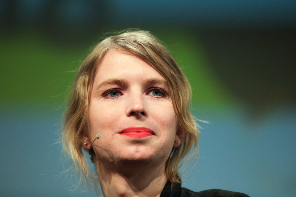
[[[185,187],[181,187],[180,183],[176,183],[171,190],[171,182],[167,181],[160,197],[249,197],[246,194],[234,191],[226,191],[220,189],[204,190],[199,192],[191,191]]]

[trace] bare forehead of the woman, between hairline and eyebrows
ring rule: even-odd
[[[98,83],[109,78],[135,81],[149,78],[165,80],[154,66],[122,50],[109,51],[98,64],[94,82]]]

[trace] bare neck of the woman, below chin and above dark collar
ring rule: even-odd
[[[158,197],[167,183],[165,164],[159,167],[139,163],[106,165],[97,160],[96,168],[104,196]]]

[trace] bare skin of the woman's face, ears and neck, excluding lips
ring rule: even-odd
[[[167,177],[165,163],[183,132],[166,79],[153,66],[122,50],[109,51],[98,65],[89,103],[89,130],[104,196],[159,196]],[[154,135],[120,135],[146,127]],[[175,143],[178,140],[178,143]]]

